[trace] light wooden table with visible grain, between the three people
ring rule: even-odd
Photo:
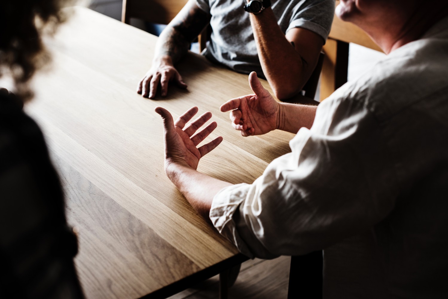
[[[251,93],[247,75],[193,53],[178,66],[188,90],[170,87],[167,98],[142,98],[136,87],[151,66],[155,41],[89,9],[73,9],[46,41],[53,62],[36,75],[36,95],[26,106],[60,174],[69,223],[79,229],[75,261],[87,298],[166,297],[246,260],[166,177],[155,107],[175,118],[192,106],[211,111],[218,128],[207,140],[224,141],[198,170],[231,183],[253,182],[289,152],[293,137],[241,137],[219,107]]]

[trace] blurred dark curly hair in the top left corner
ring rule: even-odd
[[[10,74],[22,101],[32,98],[28,81],[50,60],[43,34],[53,34],[65,21],[67,0],[0,1],[0,77]]]

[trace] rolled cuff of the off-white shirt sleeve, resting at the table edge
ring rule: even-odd
[[[241,239],[233,219],[233,215],[239,213],[240,205],[244,203],[250,186],[249,184],[237,184],[221,189],[213,197],[209,216],[221,235],[235,244],[242,254],[253,259],[254,254]]]

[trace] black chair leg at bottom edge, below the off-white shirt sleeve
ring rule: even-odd
[[[291,256],[288,299],[322,299],[323,252]]]

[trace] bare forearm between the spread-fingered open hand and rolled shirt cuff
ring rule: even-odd
[[[213,197],[222,188],[232,185],[177,163],[167,167],[167,175],[190,205],[209,222]]]

